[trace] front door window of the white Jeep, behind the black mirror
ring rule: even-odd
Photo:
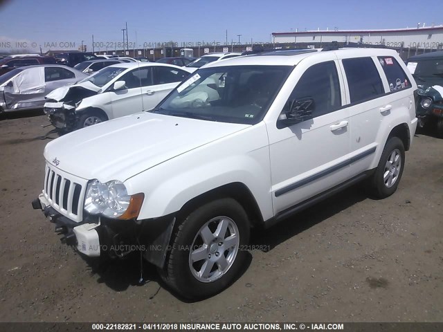
[[[341,108],[340,82],[333,61],[314,64],[303,73],[283,111],[290,107],[292,100],[314,99],[312,116],[323,116]]]

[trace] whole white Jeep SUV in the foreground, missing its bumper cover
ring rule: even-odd
[[[416,89],[393,50],[214,62],[155,109],[49,142],[33,207],[82,254],[141,250],[178,293],[208,297],[239,273],[251,227],[358,181],[395,192]]]

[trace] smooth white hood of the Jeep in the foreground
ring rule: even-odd
[[[64,172],[101,182],[125,181],[249,124],[135,113],[73,131],[49,142],[44,157]]]

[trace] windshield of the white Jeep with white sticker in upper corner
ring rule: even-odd
[[[262,120],[293,66],[203,68],[179,85],[153,113],[255,124]]]

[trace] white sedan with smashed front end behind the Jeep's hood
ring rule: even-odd
[[[115,64],[46,95],[44,112],[60,133],[89,127],[152,109],[189,74],[169,64]]]

